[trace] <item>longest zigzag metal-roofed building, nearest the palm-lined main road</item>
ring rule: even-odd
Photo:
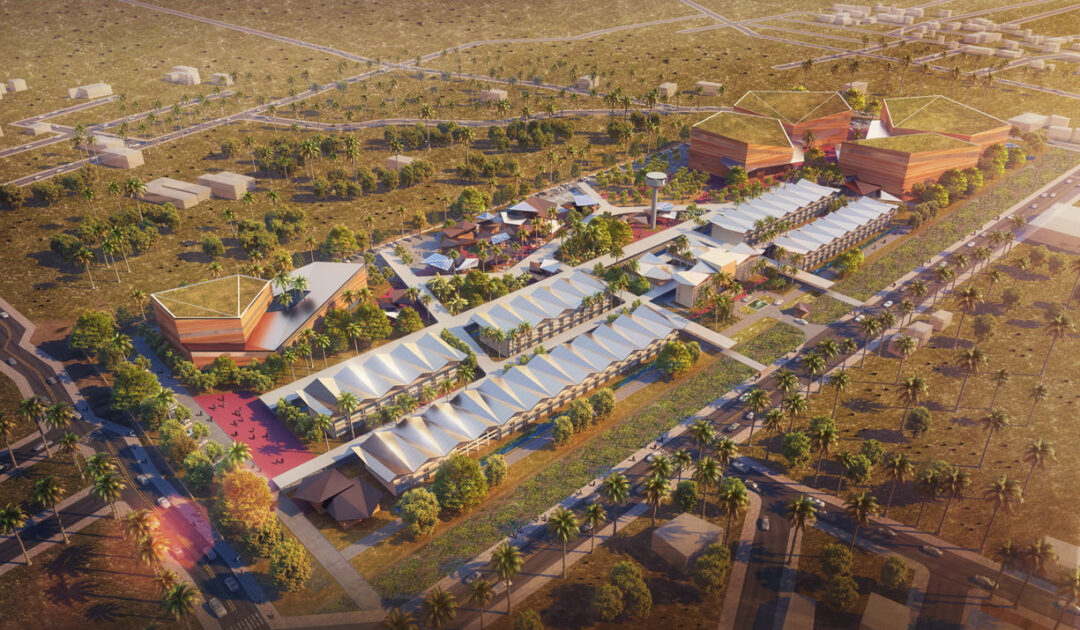
[[[440,461],[550,415],[656,358],[680,324],[650,306],[492,374],[423,413],[380,427],[352,446],[368,471],[399,495],[427,481]]]

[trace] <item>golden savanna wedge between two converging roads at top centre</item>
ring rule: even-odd
[[[420,0],[407,6],[349,0],[164,0],[159,4],[383,62],[408,61],[474,41],[566,37],[696,13],[676,0]]]

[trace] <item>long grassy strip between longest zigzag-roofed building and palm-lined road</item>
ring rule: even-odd
[[[576,435],[569,445],[540,451],[512,466],[510,479],[484,507],[442,524],[430,540],[414,542],[402,532],[357,555],[352,564],[383,597],[400,599],[423,590],[750,373],[741,364],[713,357],[681,379],[638,390],[619,402],[612,418]]]

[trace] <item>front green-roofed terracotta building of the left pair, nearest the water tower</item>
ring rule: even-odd
[[[795,146],[775,118],[720,111],[690,129],[689,165],[696,171],[723,177],[737,165],[752,173],[795,161]]]

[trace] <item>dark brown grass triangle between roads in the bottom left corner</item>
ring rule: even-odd
[[[184,628],[163,616],[161,593],[144,564],[132,568],[132,546],[120,526],[102,519],[0,577],[4,628]]]

